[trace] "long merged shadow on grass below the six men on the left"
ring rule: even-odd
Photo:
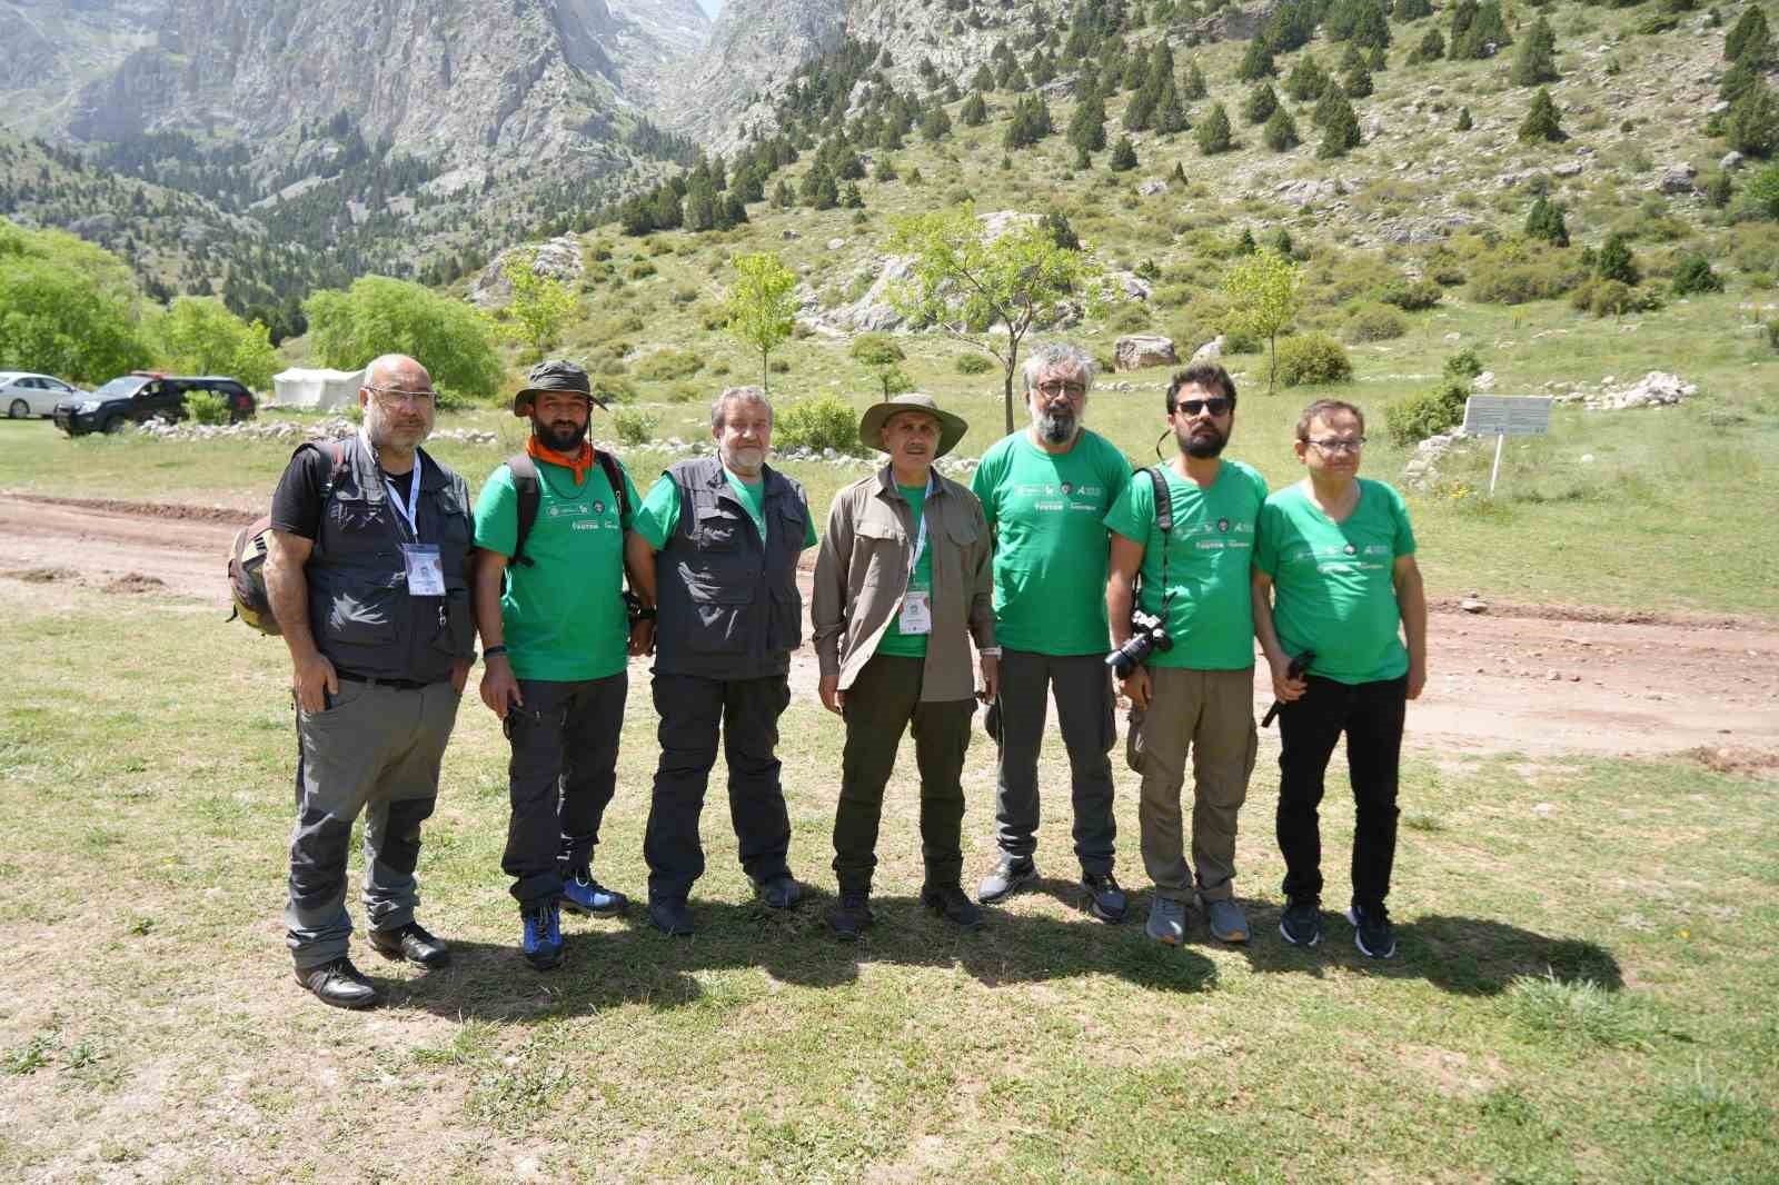
[[[667,938],[632,906],[616,922],[564,916],[564,957],[551,971],[534,971],[512,945],[452,941],[447,968],[398,982],[382,980],[390,1004],[484,1020],[546,1020],[624,1004],[658,1009],[696,1005],[706,989],[701,971],[758,968],[802,988],[843,988],[861,964],[962,968],[998,988],[1082,975],[1115,975],[1156,991],[1208,991],[1217,966],[1203,954],[1151,941],[1142,922],[1107,925],[984,909],[984,927],[961,931],[930,915],[918,897],[873,897],[877,923],[859,941],[840,941],[827,927],[833,895],[808,891],[802,904],[774,913],[758,904],[692,899],[690,938]],[[381,979],[381,961],[359,968]]]

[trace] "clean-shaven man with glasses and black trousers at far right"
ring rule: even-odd
[[[1304,480],[1267,498],[1254,550],[1254,635],[1279,708],[1279,850],[1299,947],[1322,941],[1316,808],[1341,733],[1356,804],[1352,907],[1361,954],[1389,959],[1384,899],[1397,858],[1397,770],[1407,701],[1427,685],[1427,592],[1402,495],[1359,477],[1364,413],[1320,399],[1297,420]],[[1293,678],[1292,657],[1313,653]]]

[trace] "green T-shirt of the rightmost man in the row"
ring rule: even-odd
[[[1397,557],[1414,553],[1402,495],[1368,479],[1336,523],[1302,484],[1267,498],[1254,566],[1272,576],[1272,621],[1284,653],[1316,653],[1311,674],[1340,683],[1395,680],[1409,669],[1398,630]]]

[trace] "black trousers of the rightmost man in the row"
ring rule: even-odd
[[[1309,689],[1279,708],[1279,850],[1284,893],[1297,900],[1322,895],[1324,776],[1334,744],[1347,733],[1347,774],[1356,806],[1352,838],[1352,904],[1375,909],[1389,895],[1397,861],[1397,772],[1402,763],[1402,722],[1407,676],[1375,683],[1338,683],[1309,676]]]

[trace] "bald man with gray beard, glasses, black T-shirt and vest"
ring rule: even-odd
[[[415,922],[415,867],[475,662],[470,491],[420,448],[432,381],[413,358],[386,354],[365,368],[358,402],[356,436],[292,455],[265,562],[297,705],[286,941],[297,982],[345,1009],[382,998],[347,955],[345,861],[359,811],[372,948],[425,968],[450,959]]]

